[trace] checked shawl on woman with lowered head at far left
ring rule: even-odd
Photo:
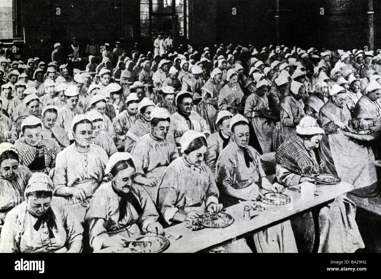
[[[19,152],[20,163],[25,166],[29,166],[30,163],[33,162],[38,148],[43,146],[45,153],[45,167],[48,168],[54,167],[56,156],[61,150],[53,139],[45,138],[42,138],[42,141],[38,144],[38,146],[34,147],[27,144],[24,137],[21,137],[14,143],[14,146]]]

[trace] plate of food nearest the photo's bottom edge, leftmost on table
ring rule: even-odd
[[[128,248],[133,253],[161,253],[166,250],[170,242],[166,237],[160,235],[146,235],[138,237],[136,241],[130,242]]]

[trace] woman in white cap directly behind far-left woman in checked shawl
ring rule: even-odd
[[[42,111],[42,116],[42,135],[44,138],[53,139],[61,150],[68,147],[70,141],[64,128],[54,125],[58,116],[58,108],[55,106],[46,106]]]

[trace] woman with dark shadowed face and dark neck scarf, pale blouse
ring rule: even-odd
[[[170,135],[174,137],[179,147],[181,136],[187,130],[195,130],[210,135],[210,129],[197,112],[192,111],[193,100],[189,92],[180,92],[176,95],[177,112],[171,115]]]

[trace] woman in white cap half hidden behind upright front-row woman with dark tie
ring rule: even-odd
[[[233,117],[230,111],[218,112],[216,126],[218,131],[207,138],[208,149],[205,152],[205,164],[210,167],[213,174],[216,172],[216,162],[221,151],[231,141],[230,120]]]

